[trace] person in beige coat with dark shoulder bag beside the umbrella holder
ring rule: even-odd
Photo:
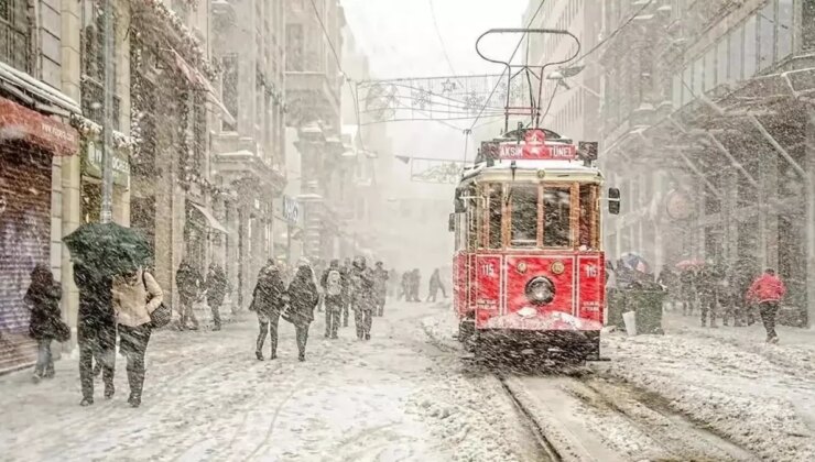
[[[153,329],[151,315],[163,307],[164,294],[153,275],[142,267],[113,277],[112,292],[119,349],[128,360],[128,403],[139,407],[144,386],[144,353]]]

